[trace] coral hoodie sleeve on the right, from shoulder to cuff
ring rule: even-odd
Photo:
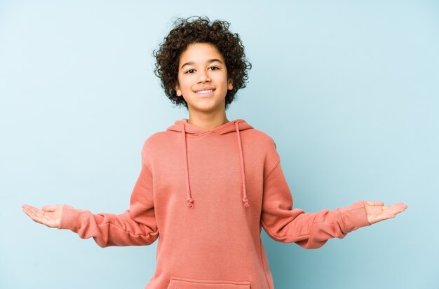
[[[334,211],[324,209],[317,213],[292,209],[290,188],[276,149],[271,155],[275,162],[264,177],[261,224],[272,239],[283,243],[295,242],[309,249],[319,248],[328,239],[342,239],[347,233],[370,225],[363,201]]]

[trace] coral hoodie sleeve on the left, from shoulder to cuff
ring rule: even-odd
[[[93,214],[65,205],[58,229],[72,230],[81,239],[93,237],[102,248],[152,244],[158,238],[158,229],[154,215],[151,171],[142,160],[142,169],[130,198],[130,208],[124,213]]]

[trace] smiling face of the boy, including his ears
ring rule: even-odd
[[[215,45],[188,45],[180,55],[175,91],[187,102],[189,113],[224,113],[227,90],[231,89],[226,63]]]

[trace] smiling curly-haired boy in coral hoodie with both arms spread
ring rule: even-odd
[[[148,245],[160,235],[145,288],[265,289],[273,279],[262,227],[276,241],[318,248],[407,209],[363,201],[318,213],[292,209],[276,143],[245,120],[227,119],[251,68],[229,23],[180,19],[154,56],[166,95],[189,119],[144,142],[130,208],[115,215],[24,205],[37,223],[101,247]]]

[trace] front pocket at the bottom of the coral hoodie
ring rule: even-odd
[[[168,289],[250,289],[250,282],[196,280],[170,277]]]

